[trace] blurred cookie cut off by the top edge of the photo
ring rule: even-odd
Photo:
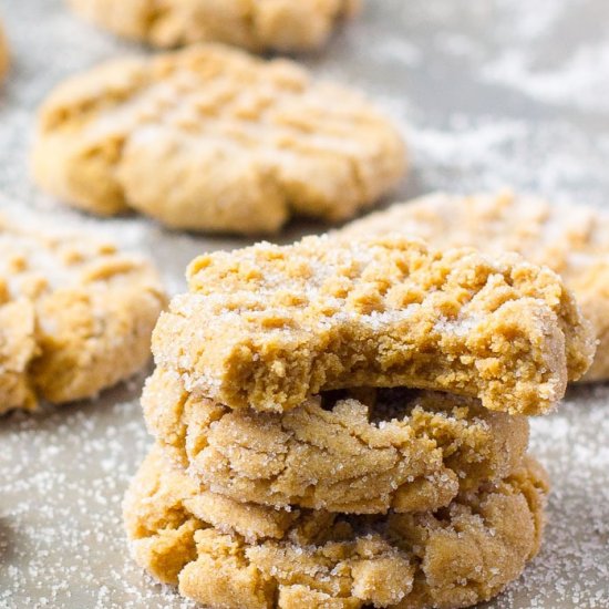
[[[69,0],[118,35],[168,48],[225,42],[250,51],[321,47],[359,0]]]

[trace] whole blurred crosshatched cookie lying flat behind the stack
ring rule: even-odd
[[[349,218],[405,166],[396,128],[358,94],[211,44],[71,79],[43,105],[33,151],[38,183],[76,207],[236,234]]]

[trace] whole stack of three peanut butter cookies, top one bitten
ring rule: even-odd
[[[516,256],[310,237],[196,259],[155,330],[136,560],[207,607],[466,607],[539,548],[526,415],[590,365]]]

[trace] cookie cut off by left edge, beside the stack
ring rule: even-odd
[[[0,412],[91,398],[133,375],[164,303],[145,260],[0,217]]]

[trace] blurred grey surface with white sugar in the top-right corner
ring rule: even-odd
[[[609,4],[384,0],[367,18],[317,68],[403,125],[414,175],[394,198],[512,186],[603,206]]]

